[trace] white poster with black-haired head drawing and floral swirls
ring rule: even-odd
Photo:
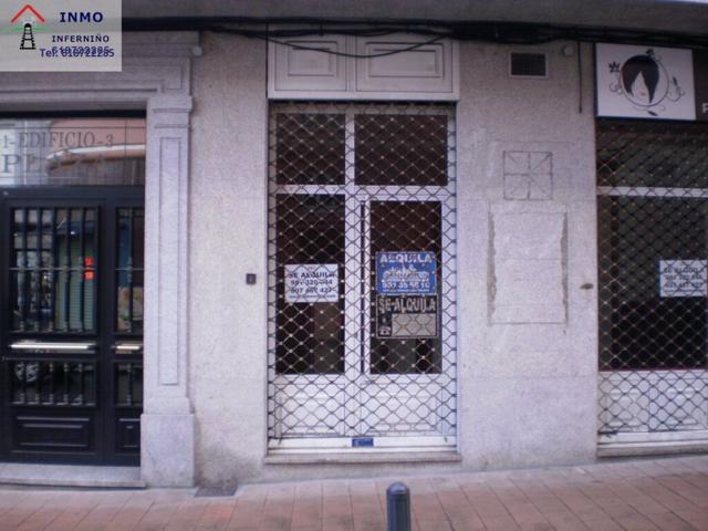
[[[690,50],[596,44],[597,116],[696,119]]]

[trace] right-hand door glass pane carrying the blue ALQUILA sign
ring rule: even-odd
[[[440,372],[438,293],[381,295],[376,291],[378,252],[431,252],[440,263],[440,204],[437,201],[372,201],[371,214],[371,372],[407,374]],[[436,268],[437,282],[440,268]],[[392,339],[377,337],[382,313]]]

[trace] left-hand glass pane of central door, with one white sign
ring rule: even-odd
[[[344,198],[279,196],[275,216],[277,371],[342,373]]]

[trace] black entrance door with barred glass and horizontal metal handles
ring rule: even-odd
[[[142,187],[7,189],[1,457],[137,464]]]

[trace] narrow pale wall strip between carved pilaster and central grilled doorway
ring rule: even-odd
[[[194,62],[190,389],[197,480],[254,478],[266,454],[266,45],[202,35]],[[258,275],[256,285],[246,273]]]

